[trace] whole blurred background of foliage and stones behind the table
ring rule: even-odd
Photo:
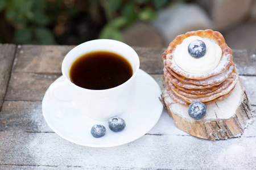
[[[0,43],[114,39],[166,48],[177,35],[208,28],[232,49],[255,49],[256,0],[0,0]]]

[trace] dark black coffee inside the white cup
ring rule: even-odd
[[[69,69],[71,82],[82,88],[104,90],[125,83],[133,75],[126,58],[112,52],[90,52],[77,58]]]

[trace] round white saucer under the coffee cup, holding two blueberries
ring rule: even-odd
[[[60,76],[56,81],[61,79],[64,77]],[[60,107],[53,104],[47,95],[48,90],[42,101],[43,116],[56,134],[78,145],[89,147],[123,145],[142,137],[152,129],[163,111],[163,104],[159,101],[162,92],[150,75],[139,70],[135,86],[133,104],[127,109],[127,112],[120,116],[125,120],[126,127],[118,133],[109,129],[108,121],[97,121],[81,114],[75,108]],[[92,126],[96,124],[105,126],[106,134],[104,137],[94,138],[90,134]]]

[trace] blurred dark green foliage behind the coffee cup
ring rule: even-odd
[[[0,0],[0,43],[80,44],[122,41],[121,29],[150,22],[178,0]]]

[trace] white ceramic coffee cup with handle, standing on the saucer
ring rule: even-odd
[[[69,78],[69,69],[76,58],[94,51],[108,51],[125,57],[133,68],[133,75],[125,83],[106,90],[89,90],[76,86]],[[84,42],[73,48],[64,58],[61,72],[64,81],[52,83],[48,89],[50,99],[57,105],[79,109],[82,114],[96,120],[109,120],[130,107],[135,92],[135,79],[139,70],[138,54],[129,45],[115,40],[99,39]],[[68,99],[56,96],[56,91],[68,94]],[[67,98],[67,97],[64,97]]]

